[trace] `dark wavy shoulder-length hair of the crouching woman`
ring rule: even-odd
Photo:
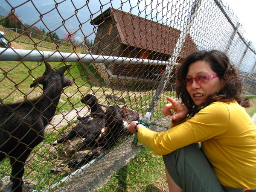
[[[231,102],[233,100],[236,100],[242,107],[250,106],[249,99],[247,98],[243,100],[240,96],[242,91],[241,79],[227,55],[218,50],[198,51],[186,57],[176,70],[177,79],[175,91],[177,97],[180,98],[183,104],[189,109],[190,116],[194,116],[195,113],[202,108],[202,106],[199,108],[195,105],[186,89],[186,84],[184,83],[189,65],[196,61],[205,61],[209,63],[211,69],[216,74],[219,74],[220,76],[218,78],[223,81],[221,90],[213,95],[209,95],[204,103],[202,103],[203,108],[212,102]]]

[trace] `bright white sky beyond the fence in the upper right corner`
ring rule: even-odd
[[[222,2],[230,5],[244,26],[244,37],[252,41],[256,48],[256,0],[222,0]]]

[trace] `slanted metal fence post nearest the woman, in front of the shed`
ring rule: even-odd
[[[189,34],[190,28],[194,23],[194,19],[197,15],[198,9],[201,5],[202,0],[195,0],[191,9],[191,13],[188,15],[187,21],[184,24],[184,29],[183,31],[180,33],[180,36],[178,38],[178,41],[175,45],[174,51],[172,52],[172,57],[169,59],[171,61],[171,64],[166,66],[166,70],[165,73],[163,74],[161,80],[160,80],[160,84],[157,87],[157,91],[154,94],[154,98],[151,101],[151,104],[148,108],[148,112],[153,113],[154,109],[157,106],[157,102],[160,99],[160,95],[163,92],[163,90],[166,89],[166,85],[170,79],[171,76],[171,72],[173,70],[173,67],[176,64],[177,58],[180,55],[180,51],[181,48],[183,47],[183,44],[186,40],[186,36]]]

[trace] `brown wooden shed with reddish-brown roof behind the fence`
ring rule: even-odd
[[[109,8],[90,22],[97,26],[91,54],[168,61],[175,48],[180,30],[127,12]],[[177,62],[198,50],[190,35]],[[105,64],[114,76],[159,79],[164,65]]]

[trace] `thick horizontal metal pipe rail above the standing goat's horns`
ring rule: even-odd
[[[81,53],[38,51],[27,49],[0,48],[0,61],[35,61],[35,62],[81,62],[81,63],[117,63],[117,64],[154,64],[170,65],[170,61],[141,58],[91,55]]]

